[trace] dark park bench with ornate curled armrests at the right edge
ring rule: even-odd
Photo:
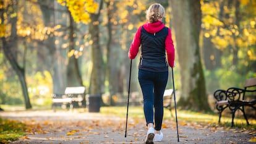
[[[245,96],[246,93],[246,96]],[[216,109],[219,114],[219,123],[221,121],[221,114],[224,109],[229,108],[232,114],[232,125],[234,126],[234,117],[237,109],[242,111],[244,119],[249,125],[247,116],[245,114],[245,106],[253,108],[256,111],[256,77],[246,80],[244,88],[231,87],[227,90],[216,90],[213,94],[216,100]]]

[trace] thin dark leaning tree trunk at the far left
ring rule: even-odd
[[[12,12],[11,14],[17,14],[18,12],[18,3],[19,1],[12,1]],[[4,9],[0,9],[1,11],[1,21],[4,23]],[[25,54],[26,54],[26,48],[24,53],[23,53],[23,67],[19,66],[19,63],[17,61],[17,51],[18,51],[18,46],[17,46],[17,16],[16,17],[11,17],[11,37],[9,38],[9,41],[6,40],[5,37],[2,37],[2,45],[4,48],[4,56],[7,57],[8,61],[10,62],[12,69],[14,69],[15,73],[18,75],[19,80],[20,80],[20,85],[22,87],[22,94],[23,98],[25,100],[25,108],[26,109],[31,109],[32,105],[30,104],[30,98],[28,96],[28,88],[27,88],[27,82],[25,78]]]

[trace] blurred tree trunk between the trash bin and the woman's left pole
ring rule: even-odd
[[[114,2],[106,2],[108,9],[108,44],[107,44],[107,61],[106,72],[107,80],[109,83],[109,95],[110,104],[113,105],[113,95],[117,93],[122,94],[124,92],[124,67],[122,65],[122,59],[124,59],[121,44],[119,43],[121,28],[120,25],[115,25],[114,20],[118,20],[116,17],[117,7]]]

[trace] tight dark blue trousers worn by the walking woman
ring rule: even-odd
[[[150,72],[139,69],[139,83],[143,95],[143,110],[147,125],[155,124],[161,130],[163,122],[163,94],[168,81],[168,71]],[[154,114],[155,108],[155,114]],[[155,116],[155,123],[154,123]]]

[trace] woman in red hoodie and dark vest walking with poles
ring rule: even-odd
[[[148,127],[145,143],[163,139],[161,132],[163,94],[168,81],[168,64],[170,67],[174,67],[174,45],[171,30],[161,22],[164,14],[164,7],[161,4],[155,3],[148,8],[147,22],[141,25],[135,33],[128,54],[130,59],[134,59],[141,45],[139,83]]]

